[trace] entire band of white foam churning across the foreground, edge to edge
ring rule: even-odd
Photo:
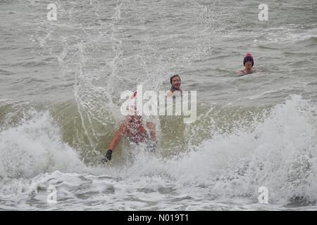
[[[286,204],[314,205],[316,109],[292,96],[251,127],[214,134],[172,158],[140,150],[132,165],[116,169],[85,167],[75,150],[61,141],[49,114],[39,113],[0,134],[1,207],[275,210]],[[46,203],[49,185],[57,188],[56,205]],[[268,188],[269,205],[258,203],[261,186]]]

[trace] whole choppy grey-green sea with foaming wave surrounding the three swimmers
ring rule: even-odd
[[[0,1],[0,210],[317,210],[316,1],[52,3]],[[176,73],[197,120],[103,165],[120,94]]]

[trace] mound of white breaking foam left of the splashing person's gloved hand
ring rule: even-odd
[[[63,143],[49,113],[33,113],[30,120],[0,133],[0,176],[27,177],[83,168],[78,153]]]

